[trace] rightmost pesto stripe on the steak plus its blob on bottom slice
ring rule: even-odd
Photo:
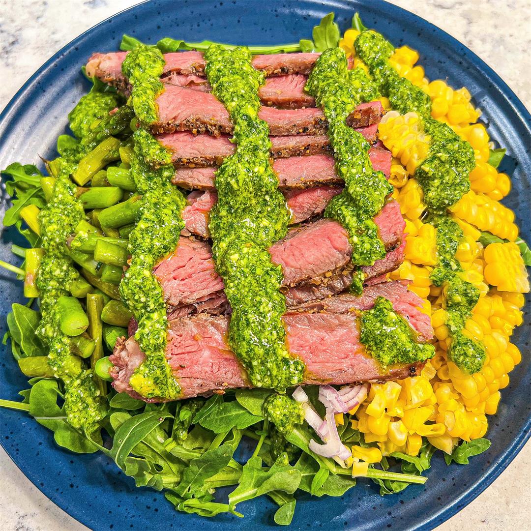
[[[336,172],[345,179],[344,191],[332,199],[325,216],[347,229],[353,263],[372,265],[386,255],[373,219],[393,187],[382,172],[374,171],[369,143],[346,125],[346,118],[359,102],[378,96],[375,84],[361,68],[348,71],[345,52],[330,48],[316,61],[306,90],[315,96],[328,119]],[[362,292],[362,274],[355,279],[353,289]],[[373,309],[361,312],[359,322],[361,342],[383,367],[424,361],[435,353],[432,345],[416,341],[416,334],[387,299],[380,297]]]

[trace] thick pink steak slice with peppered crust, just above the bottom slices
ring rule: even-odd
[[[390,251],[386,258],[364,269],[366,279],[396,269],[403,260],[403,245],[397,245],[405,223],[398,203],[390,201],[384,205],[374,220]],[[346,230],[336,221],[321,219],[292,229],[269,252],[272,262],[282,268],[288,304],[335,295],[352,282],[352,247]],[[204,297],[219,294],[224,288],[210,246],[193,238],[182,237],[175,252],[157,265],[155,275],[170,307],[193,304],[198,299],[204,301]]]

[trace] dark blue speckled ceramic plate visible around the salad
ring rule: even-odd
[[[262,6],[262,7],[260,7]],[[39,164],[39,155],[52,158],[56,138],[66,130],[67,113],[89,83],[80,67],[92,52],[116,50],[123,33],[144,42],[162,37],[210,39],[258,45],[309,38],[323,15],[336,13],[344,31],[356,11],[364,23],[384,33],[395,45],[407,44],[421,52],[420,63],[429,79],[446,79],[453,87],[465,85],[489,125],[491,138],[508,148],[502,170],[512,175],[513,190],[506,203],[516,211],[523,237],[529,241],[531,117],[509,87],[481,59],[458,41],[399,7],[381,1],[344,2],[149,2],[119,13],[65,46],[42,66],[6,107],[0,119],[0,167],[10,162]],[[527,150],[527,151],[526,151]],[[5,205],[5,198],[3,201]],[[13,230],[4,230],[0,258],[13,261]],[[17,242],[20,243],[20,242]],[[5,315],[12,302],[23,302],[20,284],[0,273],[0,304]],[[528,301],[529,304],[529,301]],[[381,498],[376,487],[359,481],[341,498],[299,496],[291,529],[430,529],[449,518],[482,492],[516,456],[529,436],[529,319],[513,341],[524,361],[511,373],[502,392],[498,415],[490,417],[489,451],[468,466],[447,467],[438,456],[425,486]],[[2,334],[4,330],[2,330]],[[2,346],[2,398],[16,400],[27,382]],[[35,421],[11,410],[0,410],[0,440],[22,472],[48,498],[91,529],[201,529],[228,531],[275,526],[273,504],[267,499],[239,508],[244,519],[232,515],[202,519],[178,513],[160,493],[137,489],[112,461],[101,454],[78,456],[59,449],[52,434]]]

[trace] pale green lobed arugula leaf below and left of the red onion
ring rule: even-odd
[[[244,465],[239,485],[229,494],[231,512],[236,505],[272,491],[293,494],[301,483],[301,471],[288,463],[286,453],[275,461],[268,470],[262,468],[260,457],[251,457]]]

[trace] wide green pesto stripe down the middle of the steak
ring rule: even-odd
[[[282,272],[267,249],[287,232],[289,212],[269,158],[269,127],[258,118],[264,81],[248,48],[212,45],[206,74],[234,124],[236,151],[216,172],[210,212],[213,256],[232,307],[228,342],[255,387],[284,390],[302,381],[304,364],[289,355],[280,293]]]

